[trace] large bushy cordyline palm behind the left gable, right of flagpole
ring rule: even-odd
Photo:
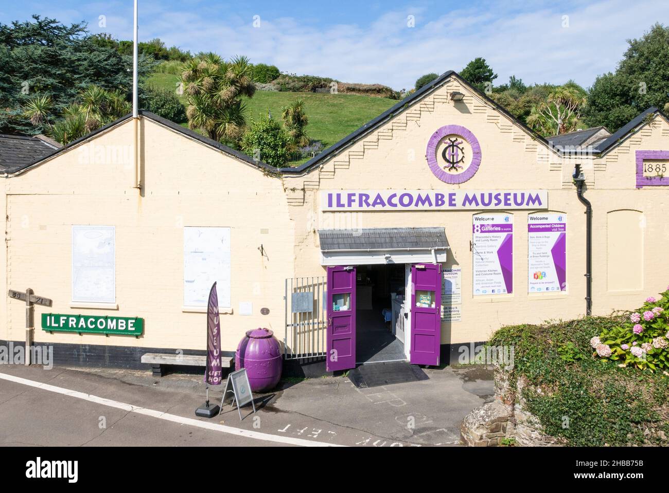
[[[225,61],[207,53],[183,64],[181,81],[188,96],[188,126],[218,142],[237,144],[246,128],[242,97],[256,92],[247,57]]]

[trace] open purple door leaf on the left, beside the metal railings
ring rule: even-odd
[[[327,371],[355,368],[355,267],[328,267]]]

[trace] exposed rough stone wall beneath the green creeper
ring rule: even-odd
[[[463,444],[473,447],[494,447],[504,438],[514,439],[520,446],[560,446],[563,440],[547,435],[536,416],[526,409],[522,388],[527,383],[516,381],[511,385],[509,372],[500,367],[494,371],[494,399],[470,412],[460,427]]]

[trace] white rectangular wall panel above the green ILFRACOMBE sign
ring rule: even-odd
[[[114,226],[72,226],[72,301],[116,303]]]

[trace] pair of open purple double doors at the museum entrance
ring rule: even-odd
[[[327,371],[355,368],[355,272],[351,266],[328,267]],[[440,264],[411,265],[409,361],[415,365],[439,364],[441,281]]]

